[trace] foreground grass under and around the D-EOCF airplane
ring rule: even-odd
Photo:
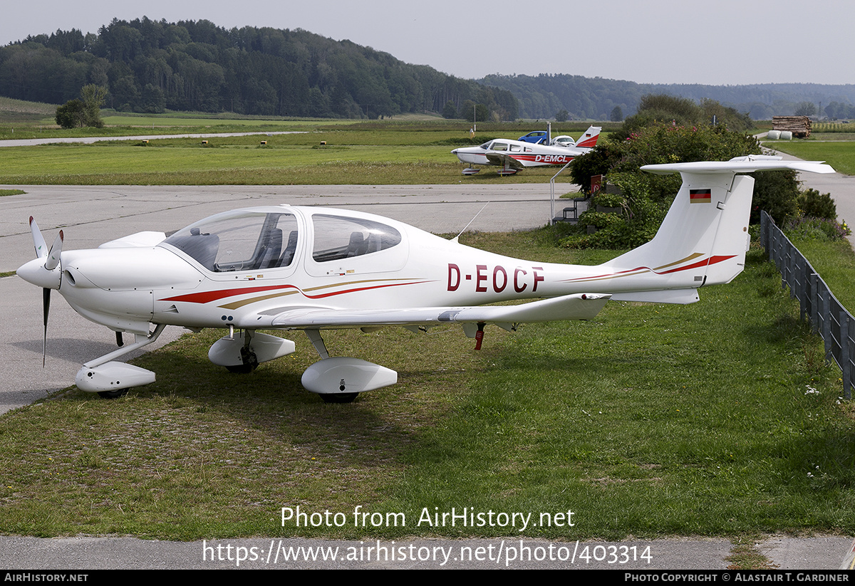
[[[550,231],[464,235],[543,261]],[[251,375],[209,363],[221,331],[145,355],[156,384],[104,401],[68,390],[0,418],[0,528],[13,534],[740,536],[855,530],[852,408],[774,267],[752,250],[690,306],[612,302],[589,322],[486,331],[331,331],[332,355],[399,383],[327,405],[298,352]],[[818,392],[808,392],[810,389]],[[308,513],[404,513],[405,527],[281,526]],[[560,513],[575,526],[417,526],[422,510]],[[438,509],[434,509],[438,507]]]

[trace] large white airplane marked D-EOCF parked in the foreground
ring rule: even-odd
[[[486,324],[593,319],[609,299],[691,303],[698,289],[743,268],[754,179],[739,173],[795,169],[834,173],[821,162],[748,156],[642,167],[681,173],[683,184],[651,242],[596,267],[522,261],[445,240],[395,220],[332,208],[269,206],[216,214],[166,237],[139,232],[98,249],[47,249],[30,219],[36,259],[18,275],[116,332],[120,348],[86,362],[81,390],[121,396],[155,373],[115,361],[152,343],[167,325],[227,329],[209,359],[235,372],[294,351],[260,330],[304,330],[321,360],[302,382],[325,401],[397,382],[398,373],[356,358],[330,358],[321,331],[460,324],[476,349]],[[519,305],[487,303],[542,298]],[[152,330],[151,327],[154,326]],[[121,346],[121,332],[134,343]],[[43,358],[44,363],[44,358]]]

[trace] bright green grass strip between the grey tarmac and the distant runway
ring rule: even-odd
[[[432,141],[435,137],[429,136]],[[0,184],[11,185],[397,185],[459,183],[463,166],[448,146],[403,146],[335,140],[333,134],[261,138],[159,139],[95,145],[43,145],[3,149]],[[326,147],[318,143],[327,139]],[[390,140],[394,140],[393,138]],[[345,143],[345,144],[343,144]],[[310,146],[311,144],[311,146]],[[470,183],[548,180],[551,168],[513,178],[490,169]],[[567,183],[565,175],[559,182]]]

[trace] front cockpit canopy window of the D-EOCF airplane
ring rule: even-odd
[[[187,226],[163,241],[213,272],[288,267],[297,250],[293,214],[233,211]]]

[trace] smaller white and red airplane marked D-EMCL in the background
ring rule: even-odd
[[[500,175],[513,175],[526,167],[545,167],[549,165],[566,165],[577,156],[584,155],[597,145],[600,126],[591,126],[579,138],[578,143],[569,144],[566,139],[562,144],[531,144],[509,138],[496,138],[481,146],[460,147],[451,151],[457,155],[460,162],[469,165],[495,165],[502,167]],[[557,137],[564,138],[564,137]],[[569,137],[566,137],[569,138]],[[570,138],[572,141],[573,139]],[[464,175],[473,175],[481,169],[466,167]]]

